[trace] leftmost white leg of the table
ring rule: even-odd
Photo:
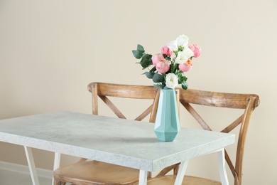
[[[32,149],[30,147],[26,147],[26,146],[24,146],[24,149],[25,149],[25,154],[27,157],[27,162],[28,162],[33,185],[39,185],[40,183],[38,181],[38,174],[36,173],[36,166],[35,166],[35,162],[33,160]]]

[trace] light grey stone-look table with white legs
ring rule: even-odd
[[[175,184],[181,184],[188,160],[218,153],[222,184],[229,184],[224,147],[234,134],[181,128],[174,142],[160,142],[153,123],[123,120],[79,112],[50,112],[0,120],[0,141],[24,146],[33,184],[39,184],[31,148],[139,169],[139,184],[147,184],[147,172],[181,162]]]

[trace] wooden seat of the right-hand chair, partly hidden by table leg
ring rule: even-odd
[[[175,182],[175,175],[159,176],[147,181],[147,185],[173,185]],[[221,185],[219,181],[199,178],[196,176],[184,176],[182,185]]]

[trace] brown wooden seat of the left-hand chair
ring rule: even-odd
[[[139,170],[97,161],[85,161],[61,167],[53,172],[55,179],[72,184],[134,184]]]

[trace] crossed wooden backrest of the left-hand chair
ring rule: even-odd
[[[158,107],[158,90],[147,85],[121,85],[112,83],[89,83],[87,89],[92,93],[92,114],[98,115],[98,97],[116,114],[126,119],[122,112],[114,105],[109,97],[124,97],[133,99],[153,100],[151,105],[135,120],[141,121],[150,114],[149,122],[155,122]]]

